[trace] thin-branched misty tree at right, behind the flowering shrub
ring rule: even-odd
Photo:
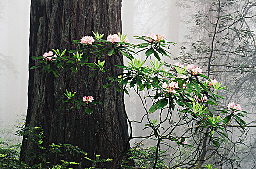
[[[183,2],[178,2],[181,5]],[[240,102],[244,109],[255,110],[256,91],[256,2],[255,0],[191,0],[186,5],[192,4],[197,12],[193,15],[196,26],[190,27],[188,41],[181,47],[182,53],[177,60],[197,63],[206,70],[209,78],[227,85],[229,91],[223,91],[220,106],[228,102]],[[188,7],[188,6],[187,6]],[[191,40],[198,38],[192,43]],[[188,48],[188,49],[186,49]],[[252,114],[251,114],[252,115]],[[249,114],[250,116],[250,114]],[[232,127],[232,128],[231,128]],[[240,166],[241,152],[250,154],[255,145],[255,139],[234,130],[237,125],[230,124],[232,133],[228,134],[230,140],[222,148],[212,149],[208,146],[207,138],[202,145],[201,163],[209,159],[211,152],[216,152],[214,159],[219,166]],[[256,127],[255,121],[248,123],[248,127]],[[252,128],[253,129],[253,128]],[[235,133],[239,136],[234,137]],[[253,132],[251,132],[253,133]],[[239,149],[239,147],[243,147]],[[242,151],[242,149],[244,149]],[[213,160],[211,158],[210,160]],[[252,159],[246,168],[254,168],[255,160]]]

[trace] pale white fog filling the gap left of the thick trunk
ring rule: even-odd
[[[29,0],[0,1],[0,136],[13,135],[27,111]]]

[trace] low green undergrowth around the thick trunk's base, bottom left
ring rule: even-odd
[[[73,169],[82,168],[81,160],[85,159],[91,163],[92,167],[86,169],[101,169],[96,168],[97,164],[112,161],[112,159],[100,159],[100,155],[95,155],[95,159],[87,157],[87,153],[82,151],[79,147],[71,144],[55,144],[52,143],[48,146],[44,143],[44,131],[41,127],[19,127],[17,134],[19,136],[25,136],[25,139],[29,139],[36,145],[37,149],[33,149],[25,153],[23,158],[38,159],[38,163],[32,166],[23,163],[20,158],[21,143],[11,144],[7,141],[0,139],[0,169]],[[47,155],[56,155],[61,157],[60,160],[53,164],[48,161]],[[69,160],[76,159],[76,160]]]

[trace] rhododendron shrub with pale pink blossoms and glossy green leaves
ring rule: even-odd
[[[98,32],[93,34],[94,37],[84,36],[81,40],[72,41],[74,45],[78,45],[76,50],[66,53],[53,49],[56,56],[48,53],[34,57],[39,59],[39,65],[32,69],[43,66],[43,71],[61,77],[59,74],[61,69],[71,70],[75,75],[85,66],[94,72],[91,76],[102,73],[108,77],[109,83],[102,87],[115,85],[120,94],[129,94],[129,92],[137,94],[141,99],[144,113],[139,121],[129,119],[126,115],[128,125],[132,131],[133,124],[146,120],[147,124],[143,129],[149,134],[137,136],[130,132],[127,141],[135,138],[156,141],[155,160],[150,165],[153,168],[157,166],[162,145],[170,146],[177,151],[180,147],[187,148],[192,154],[186,157],[186,162],[181,161],[179,165],[174,165],[172,161],[182,156],[175,151],[167,158],[170,161],[168,168],[189,167],[198,163],[201,153],[199,150],[202,148],[204,138],[209,138],[208,146],[218,149],[227,139],[228,124],[235,122],[244,129],[246,123],[242,117],[246,112],[239,104],[229,103],[224,109],[218,106],[217,99],[223,99],[217,95],[218,91],[224,90],[225,86],[205,76],[196,63],[184,66],[181,63],[162,62],[162,58],[170,57],[167,51],[169,46],[175,45],[174,42],[166,41],[163,35],[136,36],[135,38],[141,40],[141,43],[131,44],[126,35],[120,33],[108,36]],[[135,58],[138,53],[144,53],[142,60]],[[111,70],[105,68],[108,60],[103,60],[103,56],[127,57],[129,61],[127,65],[116,65],[124,70],[123,73],[111,75]],[[89,57],[95,57],[97,61],[89,63]],[[67,92],[63,103],[68,104],[71,110],[82,109],[85,113],[91,114],[92,105],[101,104],[100,98],[90,96],[90,93],[75,93],[72,89],[63,90]],[[155,118],[152,118],[151,114],[155,114]],[[205,131],[205,128],[208,130]],[[120,158],[115,159],[115,164],[118,164],[126,153],[126,150],[123,151]]]

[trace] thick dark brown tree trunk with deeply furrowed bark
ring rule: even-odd
[[[52,48],[74,49],[75,46],[66,42],[92,35],[92,31],[105,33],[104,38],[110,33],[121,32],[121,0],[32,0],[29,67],[38,64],[32,56],[42,56]],[[104,57],[107,59],[105,67],[112,69],[113,75],[122,72],[115,67],[123,63],[122,58]],[[89,58],[92,63],[96,60]],[[103,75],[88,75],[89,68],[83,67],[64,82],[52,73],[43,73],[42,69],[29,70],[26,127],[41,126],[46,136],[44,145],[68,143],[79,146],[89,157],[97,154],[101,158],[116,159],[128,138],[123,97],[115,88],[103,89],[104,84],[110,83]],[[92,95],[103,105],[96,105],[91,115],[83,110],[58,110],[61,102],[57,100],[64,96],[66,89],[76,91],[79,97]],[[38,162],[37,158],[25,156],[32,150],[35,150],[32,141],[23,139],[21,159],[30,165]],[[48,155],[52,162],[58,158]],[[107,169],[111,166],[112,163],[104,164]]]

